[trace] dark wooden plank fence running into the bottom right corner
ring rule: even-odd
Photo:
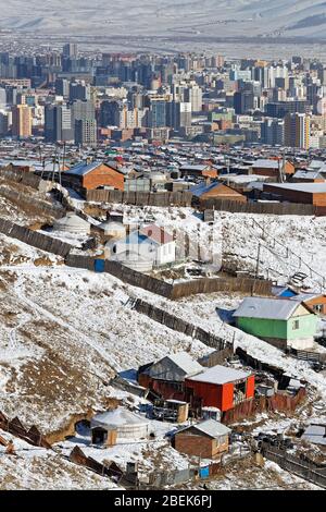
[[[321,468],[313,461],[289,454],[285,450],[271,447],[266,442],[262,444],[262,453],[269,461],[276,462],[283,470],[326,489],[326,466]]]

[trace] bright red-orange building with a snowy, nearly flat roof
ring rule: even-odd
[[[186,394],[200,399],[203,407],[222,412],[254,397],[254,376],[248,371],[216,365],[185,380]]]

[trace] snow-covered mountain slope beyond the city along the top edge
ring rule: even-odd
[[[321,0],[7,0],[1,8],[1,28],[45,34],[326,38]]]

